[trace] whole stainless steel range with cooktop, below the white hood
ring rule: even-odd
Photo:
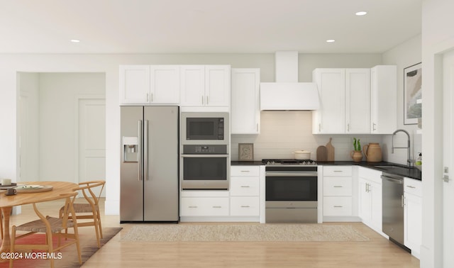
[[[318,174],[310,160],[265,162],[265,222],[317,223]]]

